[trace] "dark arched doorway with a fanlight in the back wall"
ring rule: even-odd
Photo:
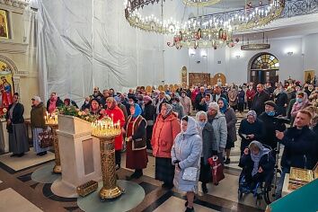
[[[279,61],[278,58],[267,52],[262,52],[250,60],[250,82],[265,84],[266,82],[277,83]]]

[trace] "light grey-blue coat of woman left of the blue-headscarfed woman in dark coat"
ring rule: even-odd
[[[217,151],[217,153],[223,153],[227,139],[225,115],[221,112],[217,112],[214,119],[208,115],[208,122],[211,123],[213,127],[214,141],[212,142],[212,149]]]

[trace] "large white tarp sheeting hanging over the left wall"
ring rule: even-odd
[[[125,90],[163,80],[163,36],[132,28],[123,1],[42,0],[38,7],[42,96],[82,101],[93,86]]]

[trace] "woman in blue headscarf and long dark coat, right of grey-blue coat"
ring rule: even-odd
[[[227,127],[227,139],[226,139],[226,146],[225,146],[225,153],[226,159],[225,164],[229,164],[230,155],[231,155],[231,148],[234,147],[234,141],[237,140],[236,137],[236,122],[237,118],[233,108],[230,108],[225,98],[220,97],[217,101],[218,106],[223,114],[225,114],[226,119],[226,127]]]

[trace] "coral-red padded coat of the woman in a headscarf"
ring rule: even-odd
[[[155,120],[151,145],[155,157],[171,158],[172,145],[174,138],[181,132],[180,120],[172,112],[167,118],[163,119],[161,114]]]

